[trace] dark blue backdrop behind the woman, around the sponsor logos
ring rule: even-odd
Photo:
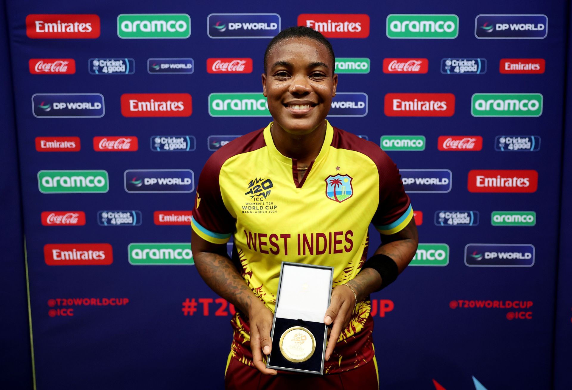
[[[351,110],[355,110],[356,116],[333,116],[332,124],[375,141],[383,134],[426,137],[426,148],[422,152],[388,153],[403,169],[404,178],[413,177],[411,172],[415,170],[415,177],[420,179],[420,184],[406,185],[412,189],[414,210],[424,216],[419,226],[420,242],[443,243],[450,248],[446,266],[407,269],[395,284],[372,296],[376,303],[379,301],[375,306],[379,310],[375,314],[374,340],[382,388],[549,388],[554,341],[558,243],[555,221],[559,216],[561,177],[566,4],[561,1],[483,0],[435,6],[413,1],[363,4],[356,9],[355,4],[333,1],[328,3],[327,10],[323,5],[283,9],[261,6],[258,2],[223,2],[211,6],[164,0],[124,6],[104,1],[96,7],[71,0],[7,2],[11,65],[17,86],[14,102],[38,388],[222,387],[232,338],[228,324],[232,308],[217,301],[215,293],[192,266],[137,267],[128,261],[128,245],[132,242],[189,242],[189,226],[157,226],[153,223],[153,213],[156,210],[192,209],[196,194],[194,177],[189,174],[179,177],[190,178],[190,184],[180,185],[187,193],[143,194],[126,192],[124,172],[128,169],[145,172],[182,169],[192,170],[198,178],[206,158],[227,140],[225,136],[230,139],[267,125],[270,119],[267,117],[228,118],[208,114],[209,93],[261,91],[263,53],[269,39],[237,37],[272,36],[280,28],[296,25],[299,14],[324,12],[365,13],[371,20],[367,38],[331,39],[338,57],[370,58],[372,68],[367,74],[340,74],[338,100],[342,101],[343,93],[352,94]],[[125,13],[187,13],[192,19],[191,34],[186,39],[174,40],[121,39],[117,36],[117,15]],[[211,15],[213,13],[221,14]],[[244,15],[228,17],[222,13],[269,15],[245,18]],[[388,14],[398,13],[454,13],[459,17],[458,37],[390,39],[386,35],[386,18]],[[475,31],[480,26],[476,25],[475,18],[483,13],[546,15],[550,19],[548,29],[542,33],[547,33],[546,38],[477,39]],[[29,14],[97,14],[101,20],[101,34],[89,41],[31,39],[26,35],[25,24]],[[491,19],[490,23],[493,22],[505,23]],[[231,23],[241,25],[232,25],[231,29]],[[272,29],[272,23],[280,25]],[[534,19],[530,23],[538,22]],[[223,31],[223,25],[227,30]],[[521,38],[523,34],[528,38],[541,37],[534,35],[537,33],[526,30],[526,26],[525,30],[512,31],[509,24],[509,29],[498,31],[498,38],[506,38],[507,34],[514,34],[511,35],[514,37],[521,34]],[[213,38],[236,39],[212,39],[209,34]],[[494,37],[497,32],[479,31],[479,34]],[[250,74],[207,73],[206,59],[217,57],[252,58],[254,70]],[[73,58],[76,73],[30,74],[27,63],[31,58]],[[136,71],[133,74],[118,72],[115,77],[90,74],[83,64],[93,58],[131,58]],[[154,77],[145,70],[149,58],[193,58],[196,70],[192,74]],[[428,72],[385,74],[382,69],[384,58],[427,58]],[[440,71],[443,58],[484,58],[487,72],[473,77],[450,77]],[[546,72],[501,74],[498,72],[501,58],[544,58]],[[120,102],[124,93],[189,93],[193,113],[190,117],[178,118],[124,117]],[[455,113],[451,117],[387,117],[383,112],[386,93],[452,93],[455,95]],[[534,118],[472,117],[471,95],[474,93],[541,93],[545,100],[542,115]],[[32,102],[34,94],[81,94],[84,100],[74,102],[92,105],[100,102],[102,107],[90,109],[89,105],[87,108],[76,105],[76,108],[69,108],[66,104],[59,111],[54,103],[70,103],[72,101],[65,99],[78,95],[63,95],[64,100],[50,98],[49,101],[46,95],[43,101],[36,95]],[[364,101],[366,95],[367,101]],[[360,107],[360,102],[367,103]],[[51,111],[46,111],[46,103],[52,104]],[[53,115],[65,110],[73,116],[87,114],[91,117],[38,118],[42,113]],[[92,111],[97,115],[89,113]],[[143,146],[135,153],[97,153],[93,150],[93,137],[126,134],[137,136],[140,145],[157,135],[189,134],[196,138],[196,150],[154,153]],[[504,134],[542,135],[542,148],[530,154],[497,153],[494,148],[496,137]],[[438,149],[439,136],[474,135],[483,137],[483,149],[479,152],[451,153]],[[64,136],[80,137],[81,150],[39,153],[35,149],[35,137]],[[106,170],[109,191],[102,194],[39,192],[39,170],[65,169]],[[467,174],[471,169],[537,170],[538,190],[534,193],[470,193]],[[431,184],[431,181],[424,184],[426,179],[442,180],[443,174],[449,179],[447,185]],[[140,178],[144,177],[141,175]],[[174,184],[166,186],[178,188]],[[424,188],[430,188],[432,192],[415,192],[425,191]],[[435,189],[438,191],[434,192]],[[86,224],[43,226],[40,216],[46,210],[82,210]],[[142,224],[109,229],[98,224],[96,216],[101,210],[139,210]],[[477,226],[467,229],[447,229],[444,236],[443,228],[435,226],[432,220],[438,210],[474,210],[479,212],[481,220]],[[495,210],[534,210],[538,221],[534,227],[492,226],[488,216]],[[45,263],[43,247],[46,244],[90,242],[112,245],[113,263],[58,267]],[[527,268],[468,267],[464,262],[464,248],[473,242],[534,245],[537,258],[535,264]],[[374,247],[379,244],[379,235],[373,229],[371,244]],[[122,305],[103,304],[102,299],[111,298],[127,301],[123,300]],[[384,308],[392,309],[382,311],[381,300],[384,300]],[[530,301],[533,305],[521,316],[521,310],[488,307],[475,304],[476,301]],[[563,305],[570,309],[570,303]],[[69,309],[73,309],[73,315]],[[569,310],[567,315],[570,316]],[[570,328],[565,331],[570,333]],[[569,353],[562,353],[566,352]],[[569,375],[560,378],[562,388],[569,388]]]

